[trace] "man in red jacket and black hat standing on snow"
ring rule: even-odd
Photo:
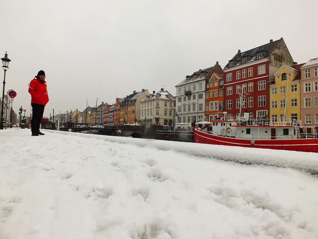
[[[40,70],[38,75],[31,80],[29,84],[29,93],[31,94],[32,105],[32,136],[43,135],[43,133],[40,132],[40,123],[43,117],[44,107],[47,102],[49,102],[45,82],[45,72],[43,70]]]

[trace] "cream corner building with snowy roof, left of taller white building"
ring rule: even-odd
[[[151,125],[166,125],[173,127],[175,116],[176,99],[161,88],[153,91],[140,102],[140,121]]]

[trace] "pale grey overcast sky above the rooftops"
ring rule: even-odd
[[[283,37],[294,61],[318,57],[317,0],[1,1],[5,93],[30,114],[28,84],[44,70],[45,116],[164,89],[198,69]],[[1,82],[3,71],[0,71]],[[2,84],[1,84],[2,90]]]

